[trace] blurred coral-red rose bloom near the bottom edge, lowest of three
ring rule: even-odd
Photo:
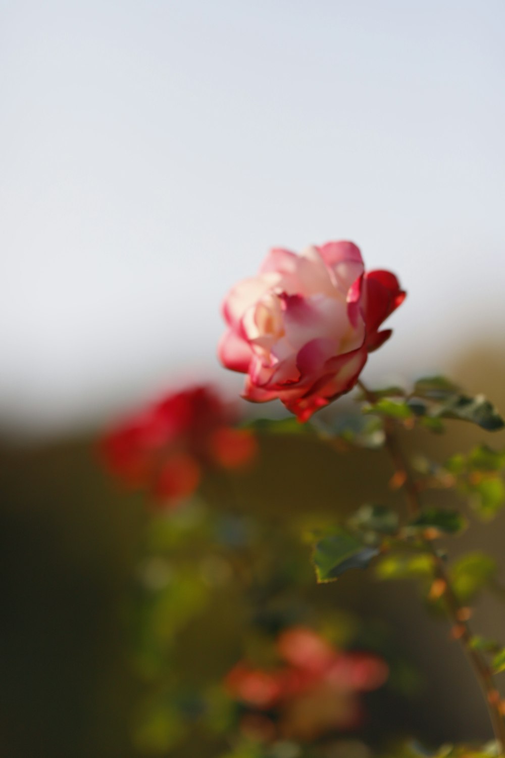
[[[276,648],[282,666],[265,671],[239,662],[225,682],[229,693],[251,709],[245,730],[255,730],[266,741],[272,735],[310,741],[356,728],[363,719],[360,694],[388,678],[379,656],[335,650],[304,627],[284,631]]]

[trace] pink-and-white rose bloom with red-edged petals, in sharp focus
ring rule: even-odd
[[[391,336],[382,322],[404,299],[390,271],[364,271],[351,242],[301,255],[273,249],[223,302],[220,360],[247,374],[245,399],[279,398],[307,421],[354,387],[369,352]]]

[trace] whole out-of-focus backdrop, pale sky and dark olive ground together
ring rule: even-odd
[[[240,386],[215,358],[219,305],[270,246],[351,239],[398,274],[371,384],[446,371],[505,409],[504,23],[498,0],[0,0],[2,755],[130,755],[124,603],[147,517],[95,439],[188,377]],[[433,455],[484,433],[451,434]],[[314,471],[335,507],[319,449],[267,452],[244,509],[307,509]],[[479,538],[503,553],[498,527]],[[461,666],[473,692],[444,629],[407,589],[359,586],[335,603],[371,604],[428,671],[413,728],[485,737],[478,694],[444,689]]]

